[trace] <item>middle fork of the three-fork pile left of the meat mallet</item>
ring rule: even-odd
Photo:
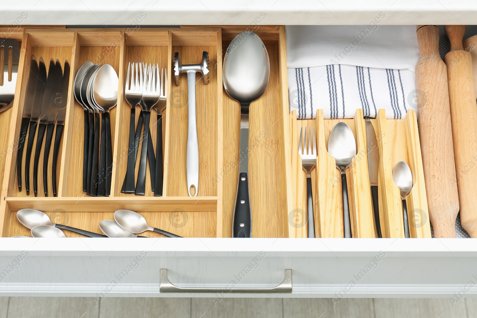
[[[159,66],[156,64],[149,64],[147,72],[144,75],[143,86],[143,143],[141,147],[141,158],[139,160],[139,172],[137,174],[137,183],[135,194],[145,195],[145,179],[146,179],[146,161],[147,161],[147,144],[149,139],[149,122],[151,120],[151,108],[159,101],[160,95],[160,81],[156,83],[156,78],[159,78]],[[159,88],[159,91],[157,90]],[[149,165],[155,164],[149,162]]]

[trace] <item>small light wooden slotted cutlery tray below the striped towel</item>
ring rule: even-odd
[[[345,170],[347,176],[350,218],[353,237],[376,237],[376,226],[368,173],[366,124],[363,111],[358,109],[353,119],[323,119],[318,110],[316,119],[297,120],[296,111],[290,113],[291,170],[294,198],[293,221],[296,237],[307,237],[306,174],[298,155],[301,126],[313,126],[317,138],[317,168],[311,171],[316,237],[344,237],[340,170],[328,153],[328,139],[333,126],[345,122],[353,131],[356,156]],[[372,119],[378,147],[378,196],[383,237],[404,237],[402,200],[393,181],[393,169],[405,161],[413,175],[413,187],[406,196],[411,237],[431,237],[430,221],[425,195],[424,173],[417,120],[414,111],[404,119],[386,119],[384,110]]]

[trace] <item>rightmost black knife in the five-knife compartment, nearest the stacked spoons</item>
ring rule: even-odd
[[[58,116],[56,117],[56,132],[55,132],[55,144],[53,146],[53,169],[52,169],[52,183],[53,183],[53,196],[57,195],[56,191],[56,163],[58,160],[58,153],[60,151],[60,142],[62,139],[64,120],[66,117],[66,104],[68,101],[68,89],[70,86],[70,64],[68,61],[64,62],[63,82],[60,93],[60,101],[57,103]]]

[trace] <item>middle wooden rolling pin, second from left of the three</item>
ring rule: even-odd
[[[444,26],[451,51],[444,61],[449,83],[450,115],[454,154],[456,155],[457,189],[460,222],[470,237],[477,237],[477,107],[472,74],[472,57],[465,51],[462,38],[465,25]]]

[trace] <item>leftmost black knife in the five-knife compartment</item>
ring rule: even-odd
[[[17,184],[21,191],[21,160],[23,158],[23,145],[27,137],[28,125],[30,124],[31,107],[33,106],[33,94],[35,93],[36,81],[38,78],[38,62],[34,55],[31,55],[30,72],[28,75],[27,89],[25,91],[25,102],[23,103],[23,118],[21,119],[20,136],[18,137],[17,153]]]

